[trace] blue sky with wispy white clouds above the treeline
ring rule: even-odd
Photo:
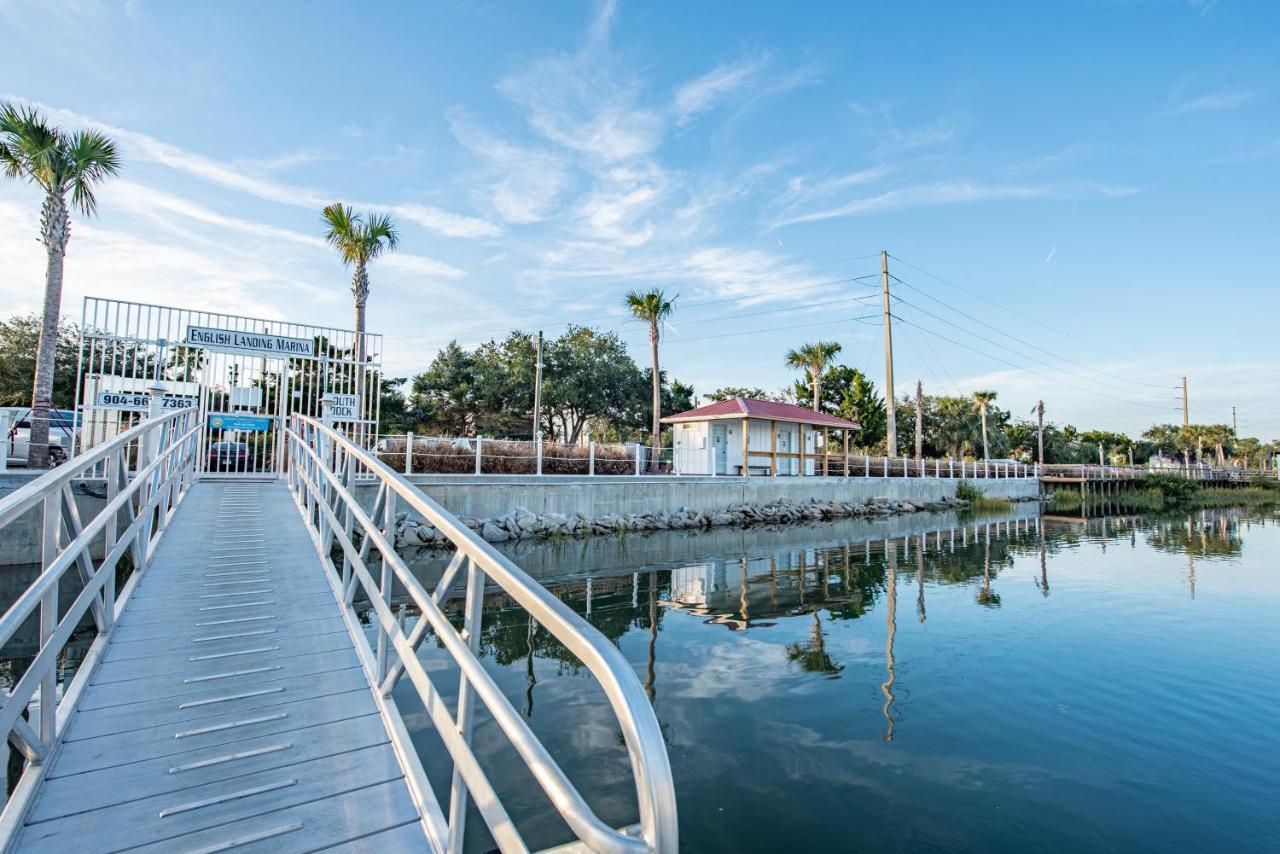
[[[388,211],[389,376],[451,339],[617,330],[678,294],[663,369],[776,391],[836,341],[899,394],[998,392],[1140,433],[1280,438],[1280,5],[0,0],[0,99],[124,165],[77,216],[86,294],[351,325],[334,201]],[[0,315],[44,287],[0,182]]]

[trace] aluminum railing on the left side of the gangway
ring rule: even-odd
[[[198,433],[195,408],[157,414],[0,501],[0,529],[32,515],[38,520],[41,565],[40,575],[0,617],[0,647],[31,617],[40,622],[38,650],[27,668],[14,675],[0,707],[0,732],[26,759],[22,778],[0,816],[0,845],[22,826],[45,761],[58,746],[118,617],[195,480]],[[105,481],[100,498],[106,502],[87,520],[73,489],[86,479]],[[99,545],[102,557],[95,561]],[[118,592],[116,567],[125,554],[133,574]],[[63,608],[59,586],[72,572],[79,576],[81,590]],[[59,697],[59,659],[88,613],[97,635]]]

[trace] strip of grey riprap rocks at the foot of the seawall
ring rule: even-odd
[[[588,516],[575,513],[538,513],[515,507],[497,519],[462,517],[462,524],[476,531],[490,543],[506,543],[518,539],[547,539],[553,536],[600,536],[631,531],[663,531],[701,528],[721,528],[727,525],[790,525],[795,522],[819,521],[824,519],[847,519],[851,516],[893,516],[914,513],[924,510],[955,510],[968,507],[969,502],[959,498],[913,503],[876,498],[868,503],[818,501],[817,498],[796,503],[788,499],[767,504],[730,504],[721,511],[700,511],[681,507],[671,512],[646,513],[607,513]],[[445,536],[433,525],[407,513],[396,516],[397,545],[443,545]]]

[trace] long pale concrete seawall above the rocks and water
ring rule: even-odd
[[[669,512],[689,507],[716,512],[730,504],[776,501],[868,503],[933,502],[955,497],[950,478],[576,478],[412,475],[410,481],[454,516],[495,519],[515,507],[544,516],[586,513],[628,515]],[[1027,479],[973,481],[992,498],[1025,499],[1039,494],[1039,483]]]

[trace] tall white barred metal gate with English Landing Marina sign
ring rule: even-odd
[[[86,297],[76,440],[88,449],[127,430],[157,391],[164,408],[200,407],[206,475],[280,475],[287,419],[320,416],[325,399],[339,414],[334,426],[371,447],[381,343],[351,329]]]

